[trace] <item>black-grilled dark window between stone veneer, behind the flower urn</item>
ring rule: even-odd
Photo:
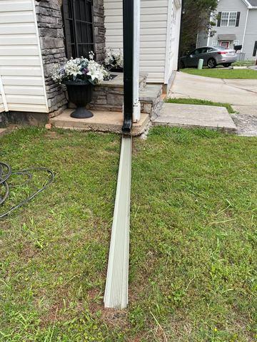
[[[88,57],[94,51],[92,0],[63,0],[67,58]]]

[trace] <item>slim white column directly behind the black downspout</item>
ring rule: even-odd
[[[133,44],[133,123],[137,123],[141,118],[141,105],[139,102],[140,0],[134,0]]]

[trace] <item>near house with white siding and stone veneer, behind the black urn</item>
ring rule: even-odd
[[[169,90],[177,68],[181,0],[134,1],[138,46],[134,121],[147,123],[159,110],[161,95]],[[122,55],[122,6],[122,0],[1,1],[0,127],[51,120],[58,127],[87,129],[86,124],[67,119],[67,108],[74,108],[74,103],[69,101],[66,85],[53,80],[52,71],[67,58],[89,58],[90,51],[99,64],[110,48]],[[114,113],[118,127],[123,74],[111,72],[110,79],[94,82],[87,108],[97,121],[91,128],[101,130],[101,118],[111,122]],[[106,119],[108,113],[113,115]]]

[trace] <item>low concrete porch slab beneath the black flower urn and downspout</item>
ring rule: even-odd
[[[50,123],[56,128],[68,130],[94,130],[99,132],[111,132],[121,134],[124,115],[121,112],[91,110],[93,118],[74,119],[71,113],[74,109],[66,109],[63,113],[50,119]],[[141,135],[150,121],[149,115],[141,113],[141,120],[133,123],[132,135]]]

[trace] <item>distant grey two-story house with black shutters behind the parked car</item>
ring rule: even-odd
[[[246,59],[257,56],[257,0],[218,0],[216,33],[199,33],[197,47],[242,46]]]

